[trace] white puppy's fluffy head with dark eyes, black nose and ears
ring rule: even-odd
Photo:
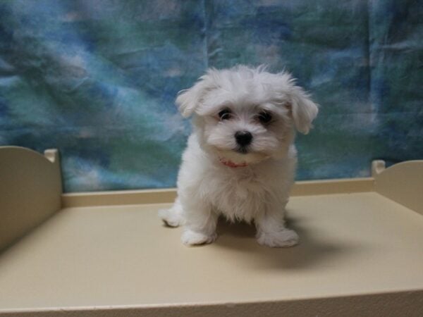
[[[295,128],[307,133],[317,116],[288,73],[246,66],[209,70],[176,104],[183,116],[195,114],[202,147],[236,164],[286,156]]]

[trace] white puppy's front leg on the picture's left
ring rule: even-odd
[[[218,215],[212,210],[212,206],[191,198],[183,204],[183,212],[186,219],[181,237],[183,244],[207,244],[216,240]]]

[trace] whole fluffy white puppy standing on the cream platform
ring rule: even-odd
[[[178,197],[159,217],[183,225],[182,242],[216,240],[220,215],[254,222],[257,242],[298,243],[285,206],[296,166],[295,130],[307,134],[317,106],[289,73],[266,68],[209,69],[176,99],[193,132],[178,174]]]

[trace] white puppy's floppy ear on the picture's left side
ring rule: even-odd
[[[216,70],[208,70],[194,86],[190,89],[181,90],[178,93],[176,105],[183,117],[188,118],[191,116],[195,108],[201,103],[204,95],[216,86],[213,80],[214,73],[216,73]]]

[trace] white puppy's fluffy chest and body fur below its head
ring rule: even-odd
[[[204,159],[205,153],[196,141],[192,135],[183,155],[178,178],[180,197],[194,195],[229,220],[250,222],[275,198],[283,210],[293,182],[295,148],[293,157],[287,159],[231,168]]]

